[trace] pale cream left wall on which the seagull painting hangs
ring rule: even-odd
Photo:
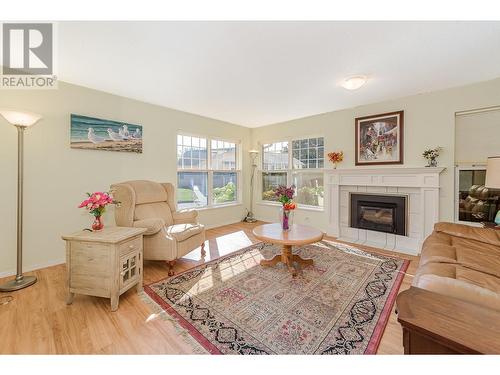
[[[250,129],[84,87],[60,83],[57,90],[0,90],[0,107],[44,117],[25,137],[25,269],[64,261],[61,234],[89,226],[90,217],[77,208],[85,192],[106,190],[113,182],[130,179],[175,182],[179,129],[239,139],[248,163]],[[142,125],[143,154],[71,149],[70,113]],[[17,135],[3,118],[0,140],[0,275],[5,275],[16,266]],[[241,205],[201,211],[200,220],[218,226],[237,222],[244,214]],[[105,220],[113,223],[113,213],[108,212]]]

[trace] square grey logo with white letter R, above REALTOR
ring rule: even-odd
[[[51,23],[4,23],[3,74],[52,74],[52,35]]]

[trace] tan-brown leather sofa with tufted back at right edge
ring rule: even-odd
[[[437,223],[412,285],[500,311],[500,231]]]

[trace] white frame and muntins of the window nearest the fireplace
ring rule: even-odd
[[[293,168],[293,152],[292,152],[292,142],[293,141],[299,141],[303,139],[310,139],[310,138],[323,138],[323,168]],[[273,170],[266,170],[264,169],[264,145],[270,144],[270,143],[278,143],[278,142],[288,142],[288,168],[287,169],[273,169]],[[257,199],[257,204],[264,205],[264,206],[281,206],[279,202],[273,202],[273,201],[268,201],[262,199],[262,175],[264,173],[286,173],[286,184],[287,186],[290,186],[293,182],[293,174],[295,172],[297,173],[321,173],[323,174],[323,184],[325,183],[325,165],[326,165],[326,151],[325,151],[325,136],[324,135],[305,135],[305,136],[300,136],[300,137],[293,137],[293,138],[279,138],[275,140],[270,140],[270,141],[265,141],[261,142],[260,144],[260,154],[261,160],[260,163],[258,164],[258,194],[259,197]],[[325,186],[323,186],[323,191],[325,189]],[[323,206],[311,206],[311,205],[306,205],[300,203],[297,206],[297,209],[302,209],[302,210],[310,210],[310,211],[324,211],[325,210],[325,202],[323,201]]]

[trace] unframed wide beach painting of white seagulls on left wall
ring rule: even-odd
[[[142,126],[71,114],[71,148],[142,153]]]

